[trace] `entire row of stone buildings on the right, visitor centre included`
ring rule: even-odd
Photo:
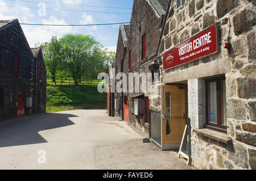
[[[199,169],[256,169],[255,24],[255,1],[134,1],[115,66],[160,76],[151,92],[115,93],[129,106],[126,122],[162,150],[179,149],[188,125]]]

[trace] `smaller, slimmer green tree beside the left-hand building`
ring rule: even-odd
[[[51,41],[43,44],[41,47],[47,69],[52,75],[52,82],[55,82],[56,85],[56,71],[61,69],[63,61],[60,41],[57,40],[56,36],[52,36]]]

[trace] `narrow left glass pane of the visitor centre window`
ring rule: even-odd
[[[217,124],[217,91],[216,91],[216,82],[210,82],[210,123],[216,123]]]

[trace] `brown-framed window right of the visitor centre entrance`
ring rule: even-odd
[[[225,77],[207,79],[207,127],[226,133],[226,82]]]

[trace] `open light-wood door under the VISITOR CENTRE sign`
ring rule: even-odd
[[[163,148],[179,149],[186,122],[185,86],[165,85],[162,94]]]

